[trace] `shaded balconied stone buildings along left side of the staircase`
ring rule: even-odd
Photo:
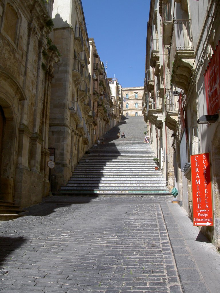
[[[70,9],[72,7],[72,9]],[[55,0],[51,39],[60,51],[51,90],[49,147],[56,192],[87,151],[110,129],[111,92],[81,0]]]

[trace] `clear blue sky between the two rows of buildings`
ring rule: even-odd
[[[89,38],[122,87],[143,86],[150,0],[82,0]]]

